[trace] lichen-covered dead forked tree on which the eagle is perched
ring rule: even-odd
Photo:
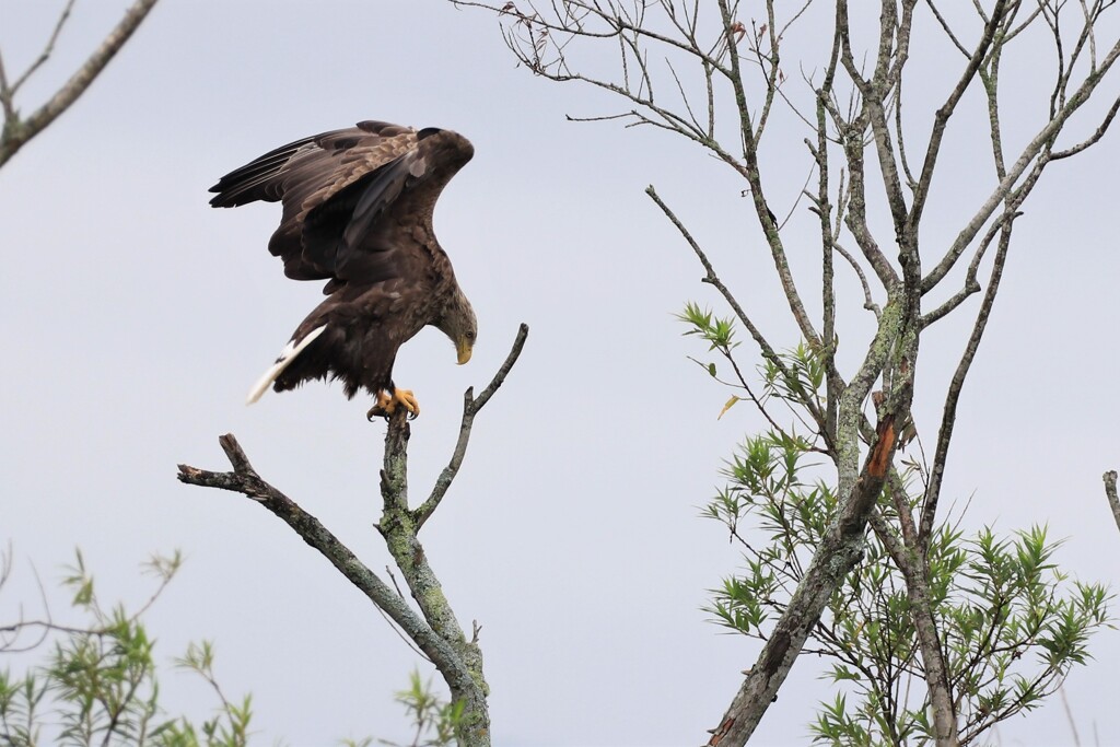
[[[521,325],[505,363],[498,368],[489,385],[478,395],[468,389],[463,400],[463,420],[459,438],[447,467],[440,473],[431,493],[417,507],[409,506],[408,442],[410,436],[408,412],[399,408],[389,420],[385,433],[385,452],[381,470],[381,521],[375,524],[385,541],[398,570],[408,585],[419,613],[405,601],[403,595],[386,583],[361,559],[344,545],[330,530],[304,511],[299,504],[264,482],[249,463],[232,435],[218,439],[233,471],[214,473],[179,465],[179,479],[189,485],[216,487],[242,493],[286,522],[309,545],[318,550],[351,583],[365,594],[392,623],[408,636],[421,656],[439,670],[450,689],[456,736],[463,747],[483,747],[491,744],[489,713],[486,697],[489,688],[483,676],[482,650],[478,645],[479,627],[475,624],[470,637],[456,619],[435,570],[428,562],[420,529],[440,506],[467,452],[467,443],[475,415],[510,374],[521,355],[529,336],[529,327]],[[395,581],[393,581],[395,583]]]

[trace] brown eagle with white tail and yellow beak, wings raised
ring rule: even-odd
[[[269,251],[295,280],[328,280],[327,296],[296,328],[280,357],[249,392],[282,392],[338,379],[347,398],[376,398],[368,417],[420,405],[393,383],[396,351],[438,327],[460,364],[478,334],[475,312],[432,230],[444,187],[474,148],[450,130],[358,122],[268,152],[222,177],[214,207],[283,203]]]

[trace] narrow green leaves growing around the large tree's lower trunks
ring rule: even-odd
[[[681,319],[691,326],[688,334],[730,360],[709,311],[689,305]],[[759,374],[762,394],[749,399],[764,411],[781,402],[812,436],[797,435],[796,424],[778,428],[767,414],[773,427],[731,455],[725,486],[702,515],[724,524],[743,552],[743,568],[711,590],[706,609],[719,625],[765,641],[836,514],[838,496],[818,428],[810,424],[811,410],[824,410],[821,356],[799,345],[765,361]],[[920,508],[928,479],[917,460],[903,464],[877,507],[889,531],[897,531],[900,510]],[[928,538],[924,580],[962,745],[1042,704],[1074,665],[1089,661],[1091,634],[1110,626],[1110,594],[1067,578],[1053,560],[1058,545],[1040,526],[1001,538],[991,527],[967,535],[958,524],[941,523]],[[824,678],[836,685],[810,725],[815,741],[933,741],[906,577],[879,534],[869,533],[861,561],[832,596],[805,651],[829,661]]]

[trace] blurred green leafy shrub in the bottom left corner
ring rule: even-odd
[[[158,579],[158,586],[147,604],[130,613],[123,605],[102,606],[78,551],[75,563],[66,569],[63,586],[71,592],[73,607],[85,617],[82,626],[49,620],[0,626],[0,653],[52,646],[47,663],[32,665],[22,674],[13,675],[10,670],[0,673],[0,744],[243,747],[250,700],[246,697],[234,706],[222,697],[209,643],[192,644],[180,665],[200,674],[215,689],[222,700],[217,715],[196,727],[184,717],[168,719],[159,707],[155,642],[141,617],[181,563],[178,552],[144,563],[144,571]],[[6,572],[0,577],[6,578]],[[22,645],[19,638],[28,634],[37,634],[37,638]]]

